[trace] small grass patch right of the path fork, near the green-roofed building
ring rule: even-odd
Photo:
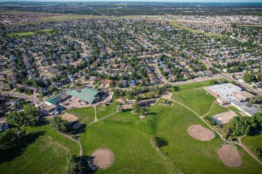
[[[109,116],[114,111],[117,111],[117,102],[113,102],[108,106],[98,105],[97,106],[97,119],[103,118],[105,116]]]

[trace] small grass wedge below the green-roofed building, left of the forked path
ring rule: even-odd
[[[79,118],[78,120],[84,122],[86,125],[94,121],[94,107],[70,109],[67,112],[77,116]]]

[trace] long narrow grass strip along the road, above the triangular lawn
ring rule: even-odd
[[[200,88],[200,87],[208,87],[208,86],[210,86],[210,81],[211,80],[205,80],[205,81],[196,82],[196,83],[175,85],[174,90],[175,91],[185,91],[185,90],[191,90],[191,89],[196,89],[196,88]]]

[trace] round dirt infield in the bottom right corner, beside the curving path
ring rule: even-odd
[[[242,164],[241,155],[239,155],[239,152],[229,144],[221,146],[217,151],[217,155],[219,155],[220,160],[226,166],[238,167]]]

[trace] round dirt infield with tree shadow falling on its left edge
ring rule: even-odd
[[[109,149],[97,149],[89,157],[88,163],[92,170],[105,169],[114,162],[114,153]]]

